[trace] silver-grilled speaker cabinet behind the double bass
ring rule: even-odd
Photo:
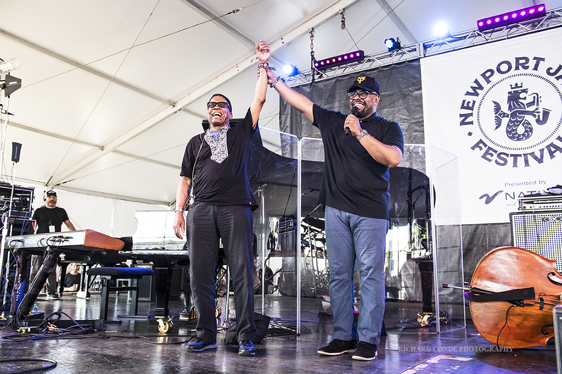
[[[562,211],[515,212],[509,218],[513,246],[556,261],[562,272]]]

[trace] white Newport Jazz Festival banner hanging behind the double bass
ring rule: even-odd
[[[462,224],[562,185],[559,45],[562,28],[422,58],[425,144],[458,158]]]

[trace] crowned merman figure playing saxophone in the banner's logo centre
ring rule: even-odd
[[[509,113],[501,110],[500,103],[492,101],[496,122],[494,130],[501,127],[504,118],[509,118],[505,126],[507,139],[520,142],[531,138],[533,135],[533,125],[529,122],[529,117],[534,120],[535,124],[544,125],[549,120],[550,110],[542,108],[541,113],[540,96],[538,93],[528,95],[529,90],[523,88],[523,84],[515,83],[510,87],[511,90],[507,93],[507,110]],[[525,102],[527,98],[531,100]]]

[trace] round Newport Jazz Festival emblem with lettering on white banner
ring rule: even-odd
[[[459,129],[495,166],[533,167],[562,155],[562,65],[516,57],[484,70],[466,90]]]

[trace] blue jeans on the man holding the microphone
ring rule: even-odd
[[[384,314],[384,252],[388,220],[361,217],[327,206],[325,225],[334,339],[359,338],[379,344]],[[353,321],[356,262],[361,279],[357,326]]]

